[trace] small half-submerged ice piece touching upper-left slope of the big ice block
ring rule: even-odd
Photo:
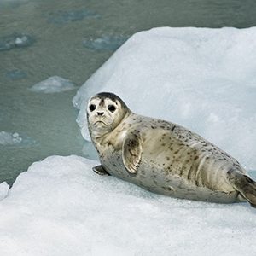
[[[88,49],[96,49],[96,50],[115,50],[118,49],[120,45],[124,44],[127,40],[124,36],[103,36],[102,38],[96,39],[84,39],[83,44],[84,47]]]

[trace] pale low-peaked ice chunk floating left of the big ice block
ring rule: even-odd
[[[35,92],[55,93],[66,90],[73,90],[76,86],[72,81],[58,76],[49,77],[44,81],[34,84],[30,90]]]

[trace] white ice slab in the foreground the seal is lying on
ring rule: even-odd
[[[51,156],[0,201],[0,255],[255,255],[255,209],[154,195]]]

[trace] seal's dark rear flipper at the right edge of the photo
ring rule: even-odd
[[[240,192],[252,207],[256,207],[256,182],[236,170],[228,172],[228,179],[234,189]]]

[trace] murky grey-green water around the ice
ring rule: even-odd
[[[76,125],[76,90],[28,90],[58,75],[81,85],[133,33],[156,26],[256,26],[256,2],[205,0],[0,0],[0,183],[52,154],[94,158]],[[254,176],[256,177],[256,175]]]

